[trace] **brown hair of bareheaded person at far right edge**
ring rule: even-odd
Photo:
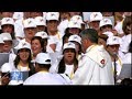
[[[122,24],[122,30],[124,32],[125,35],[129,34],[129,30],[128,30],[128,25],[132,24],[132,15],[130,16],[125,16],[123,24]]]

